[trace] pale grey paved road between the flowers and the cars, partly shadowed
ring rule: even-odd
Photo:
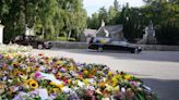
[[[143,51],[140,54],[131,54],[116,51],[51,49],[32,52],[73,58],[76,62],[103,63],[112,71],[124,71],[140,76],[157,92],[159,100],[179,100],[179,51]]]

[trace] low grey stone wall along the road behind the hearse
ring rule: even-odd
[[[59,49],[87,49],[86,42],[52,41],[55,48]],[[160,45],[134,45],[140,46],[143,50],[156,51],[179,51],[179,46],[160,46]]]

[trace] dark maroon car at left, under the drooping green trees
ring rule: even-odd
[[[37,40],[35,36],[19,35],[11,40],[12,43],[17,43],[22,46],[32,46],[37,49],[50,49],[52,43],[50,41]]]

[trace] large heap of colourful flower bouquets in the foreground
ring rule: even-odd
[[[0,54],[2,100],[155,100],[143,82],[102,64],[44,54]]]

